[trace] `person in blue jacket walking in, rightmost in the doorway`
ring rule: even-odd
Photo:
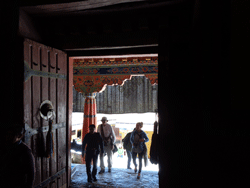
[[[136,156],[137,154],[139,155],[139,171],[138,171],[138,175],[137,178],[140,179],[140,175],[141,175],[141,169],[142,169],[142,156],[144,154],[144,148],[145,146],[145,142],[148,142],[148,136],[147,134],[141,130],[141,128],[143,127],[143,123],[139,122],[136,124],[136,130],[134,130],[131,133],[131,137],[130,137],[130,142],[132,144],[132,157],[133,157],[133,163],[135,165],[135,173],[137,172],[137,164],[136,164]]]

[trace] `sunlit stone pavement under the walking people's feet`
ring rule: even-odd
[[[105,165],[107,165],[107,158],[104,158]],[[138,159],[137,159],[137,164]],[[158,179],[158,165],[153,165],[149,161],[149,165],[147,167],[142,167],[141,178],[137,179],[137,173],[134,172],[134,165],[131,164],[132,169],[127,169],[127,157],[118,158],[117,155],[113,155],[113,167],[112,172],[108,172],[108,168],[106,167],[104,174],[97,173],[98,181],[95,183],[87,182],[87,174],[86,167],[84,164],[76,164],[75,166],[75,174],[71,180],[71,188],[81,188],[81,187],[120,187],[120,188],[158,188],[159,187],[159,179]],[[99,160],[98,160],[98,170]]]

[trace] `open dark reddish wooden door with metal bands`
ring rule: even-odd
[[[24,122],[25,142],[35,157],[34,187],[61,188],[67,183],[67,54],[29,39],[24,39]],[[46,157],[49,123],[40,116],[40,105],[51,101],[53,154]]]

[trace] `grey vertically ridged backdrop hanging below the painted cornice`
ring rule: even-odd
[[[97,113],[121,114],[121,113],[145,113],[155,112],[157,104],[158,85],[151,85],[144,76],[133,76],[123,86],[107,86],[97,93]],[[73,88],[73,111],[83,112],[83,94]]]

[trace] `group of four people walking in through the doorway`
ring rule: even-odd
[[[95,132],[96,126],[94,124],[89,126],[89,133],[85,135],[82,142],[82,156],[85,156],[88,182],[90,183],[97,181],[97,160],[99,154],[101,167],[99,174],[105,173],[104,156],[106,154],[108,157],[108,172],[111,172],[112,168],[112,150],[114,149],[116,137],[111,125],[108,124],[108,119],[103,117],[101,121],[102,124],[98,126],[97,132]],[[137,175],[138,179],[141,176],[142,157],[144,155],[145,159],[145,155],[147,155],[145,142],[149,141],[147,134],[142,130],[142,127],[143,123],[138,122],[134,130],[128,133],[122,140],[124,142],[124,148],[126,149],[128,156],[127,168],[131,169],[130,163],[131,158],[133,158],[135,173],[137,173],[136,157],[137,155],[139,156],[139,170]],[[92,172],[91,161],[93,161]]]

